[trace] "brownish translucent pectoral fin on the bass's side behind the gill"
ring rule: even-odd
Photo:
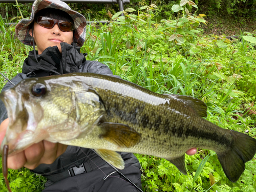
[[[104,131],[100,137],[119,147],[129,148],[141,140],[141,134],[126,124],[103,122],[99,126]]]

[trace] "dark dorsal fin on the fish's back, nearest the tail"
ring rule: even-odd
[[[168,95],[168,94],[164,94]],[[176,100],[179,100],[181,102],[184,102],[188,106],[190,106],[191,109],[193,109],[200,117],[207,117],[207,105],[195,98],[195,97],[190,97],[186,95],[168,95],[169,97],[172,97]]]

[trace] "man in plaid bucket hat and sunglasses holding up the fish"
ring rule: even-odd
[[[86,19],[59,0],[36,0],[30,19],[22,19],[15,29],[18,39],[34,51],[24,61],[22,73],[12,82],[30,77],[41,77],[72,72],[99,73],[115,76],[98,61],[88,61],[79,47],[86,36]],[[35,51],[37,46],[37,52]],[[115,76],[120,78],[118,76]],[[7,83],[2,91],[13,87]],[[9,119],[0,101],[0,142]],[[195,154],[196,149],[187,154]],[[122,173],[141,188],[140,164],[131,153],[120,153],[125,161]],[[48,181],[44,191],[138,191],[92,150],[60,143],[40,141],[23,152],[8,157],[8,167],[27,167],[44,175]],[[104,176],[110,177],[103,180]]]

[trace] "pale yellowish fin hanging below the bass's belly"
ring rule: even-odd
[[[95,150],[97,154],[105,161],[111,163],[118,169],[124,169],[124,161],[120,154],[110,150]]]

